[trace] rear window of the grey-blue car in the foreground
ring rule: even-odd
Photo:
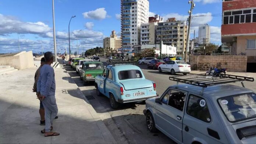
[[[256,94],[219,98],[218,103],[229,121],[256,117]]]

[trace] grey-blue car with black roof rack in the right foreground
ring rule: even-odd
[[[146,124],[177,143],[256,143],[256,94],[243,81],[254,78],[173,76],[162,96],[146,100]],[[228,83],[241,82],[242,86]],[[182,84],[179,84],[182,83]]]

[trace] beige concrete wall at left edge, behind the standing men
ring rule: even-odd
[[[19,70],[32,68],[34,66],[32,51],[22,51],[15,55],[1,56],[0,65],[10,65]]]

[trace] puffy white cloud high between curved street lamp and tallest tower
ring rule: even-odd
[[[105,8],[97,8],[94,11],[83,12],[83,17],[100,20],[100,19],[105,19],[106,17],[109,17],[109,16],[107,15],[107,11],[105,10]]]

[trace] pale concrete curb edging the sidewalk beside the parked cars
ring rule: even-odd
[[[61,67],[64,71],[66,71],[63,66]],[[67,71],[66,71],[67,72]],[[71,76],[67,73],[65,73],[69,78],[70,81],[72,83],[74,83],[77,87],[78,93],[79,93],[79,97],[83,100],[83,103],[85,104],[85,107],[88,109],[88,111],[90,112],[90,114],[92,115],[93,119],[95,120],[98,128],[100,129],[100,131],[102,132],[102,136],[104,138],[104,140],[107,143],[111,143],[111,144],[116,144],[117,142],[115,141],[114,137],[112,136],[112,134],[110,133],[109,129],[107,129],[107,126],[104,124],[104,122],[102,121],[102,119],[100,118],[100,116],[97,114],[97,112],[95,111],[95,109],[92,107],[92,105],[90,104],[90,102],[85,98],[84,94],[82,93],[81,89],[79,89],[79,87],[77,86],[77,84],[75,83],[75,81],[71,78]]]

